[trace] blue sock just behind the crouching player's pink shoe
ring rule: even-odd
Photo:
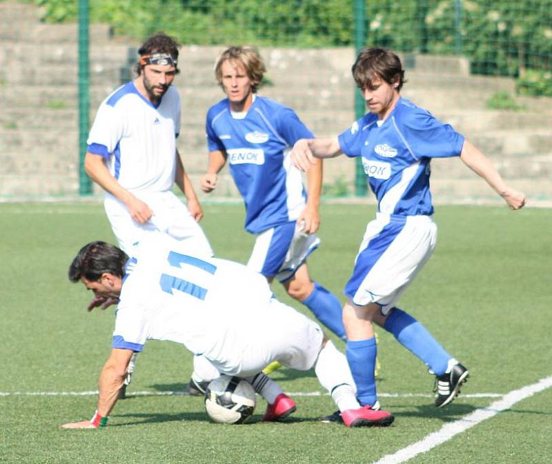
[[[366,340],[347,341],[346,356],[351,374],[357,384],[357,399],[361,405],[371,405],[377,401],[375,392],[375,337]]]

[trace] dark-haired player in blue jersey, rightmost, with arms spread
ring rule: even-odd
[[[400,96],[404,70],[393,52],[362,50],[353,65],[353,77],[362,90],[368,113],[334,139],[302,139],[292,152],[293,163],[308,170],[314,157],[340,154],[361,157],[378,207],[368,223],[353,275],[344,293],[347,333],[346,356],[357,384],[362,408],[342,414],[347,424],[370,420],[377,403],[374,381],[376,343],[373,323],[393,334],[435,374],[435,405],[449,404],[469,374],[410,314],[395,307],[399,296],[431,256],[437,238],[429,191],[432,158],[460,157],[482,176],[512,210],[525,196],[510,188],[480,150],[450,125]]]

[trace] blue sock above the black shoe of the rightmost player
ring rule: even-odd
[[[424,361],[435,374],[444,374],[452,356],[410,314],[394,307],[385,321],[384,329]]]

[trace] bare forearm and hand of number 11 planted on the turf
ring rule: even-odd
[[[96,413],[91,421],[72,422],[61,425],[64,429],[95,429],[105,425],[107,417],[117,403],[119,390],[124,384],[126,369],[132,350],[112,348],[109,359],[99,375],[99,398]],[[102,423],[103,420],[103,423]]]

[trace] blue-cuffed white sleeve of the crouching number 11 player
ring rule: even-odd
[[[148,339],[145,310],[139,303],[121,301],[117,306],[117,318],[113,331],[112,348],[140,352]]]

